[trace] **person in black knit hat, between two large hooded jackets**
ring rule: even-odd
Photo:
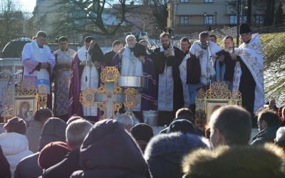
[[[144,123],[139,123],[133,126],[130,129],[130,134],[133,135],[133,137],[135,138],[135,142],[137,142],[142,152],[145,152],[145,147],[147,147],[147,143],[154,136],[152,127]]]

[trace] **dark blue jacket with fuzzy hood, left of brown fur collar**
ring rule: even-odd
[[[202,137],[174,132],[153,137],[144,157],[154,178],[182,177],[182,157],[192,150],[209,147],[209,142]]]

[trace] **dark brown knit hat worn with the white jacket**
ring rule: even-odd
[[[19,117],[13,117],[8,120],[6,125],[4,125],[6,132],[16,132],[22,135],[26,135],[26,123]]]

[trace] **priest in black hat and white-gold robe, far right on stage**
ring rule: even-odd
[[[252,34],[247,23],[239,27],[242,44],[230,56],[236,60],[232,92],[242,93],[242,106],[252,115],[252,126],[257,127],[254,113],[264,105],[264,67],[259,34]]]

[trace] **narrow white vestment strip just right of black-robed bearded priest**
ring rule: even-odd
[[[190,105],[190,95],[188,90],[188,85],[186,84],[186,78],[187,78],[187,59],[190,58],[190,56],[187,54],[185,58],[183,59],[182,63],[179,66],[180,70],[180,78],[182,81],[182,87],[183,87],[183,99],[184,99],[184,107],[188,108]]]

